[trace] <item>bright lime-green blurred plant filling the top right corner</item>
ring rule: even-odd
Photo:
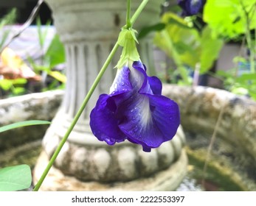
[[[237,66],[218,75],[224,78],[226,89],[256,99],[256,1],[208,0],[203,18],[215,36],[241,42],[241,47],[245,44],[248,56],[235,57]]]

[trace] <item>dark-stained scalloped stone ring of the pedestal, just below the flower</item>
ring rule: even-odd
[[[61,139],[51,130],[49,128],[47,131],[51,136],[46,135],[48,138],[43,141],[44,151],[48,157],[52,156]],[[85,135],[84,138],[88,137]],[[60,169],[63,174],[72,175],[83,181],[130,181],[165,170],[179,159],[184,145],[181,126],[172,141],[163,143],[151,152],[143,152],[142,146],[128,141],[114,146],[108,146],[103,142],[92,145],[67,141],[58,154],[55,168]]]

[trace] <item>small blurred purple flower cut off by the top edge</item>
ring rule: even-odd
[[[187,16],[196,15],[203,6],[202,0],[178,0],[178,4]]]

